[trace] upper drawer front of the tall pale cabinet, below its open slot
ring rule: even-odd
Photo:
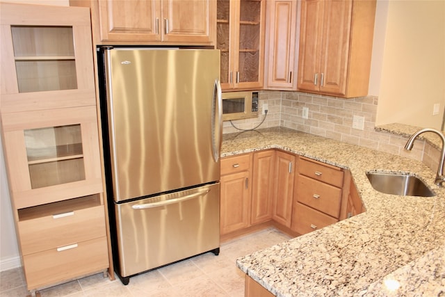
[[[23,255],[106,235],[103,205],[23,220],[18,225]]]

